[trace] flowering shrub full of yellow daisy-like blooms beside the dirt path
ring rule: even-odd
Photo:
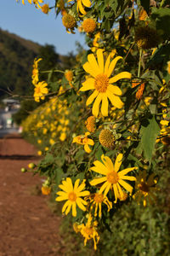
[[[48,102],[22,125],[44,156],[33,167],[47,176],[42,193],[57,194],[84,245],[94,240],[96,250],[100,231],[127,204],[158,203],[170,144],[170,9],[167,1],[54,2],[66,31],[79,26],[89,49],[71,70],[47,71],[47,82],[35,60],[35,101]],[[63,78],[51,81],[54,72]]]

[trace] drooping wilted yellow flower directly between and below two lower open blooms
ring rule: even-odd
[[[108,212],[112,208],[112,202],[108,200],[107,196],[104,196],[103,194],[95,193],[93,195],[89,196],[90,203],[92,203],[91,209],[95,206],[94,216],[97,216],[98,208],[99,208],[99,218],[101,218],[101,205],[102,203],[105,203],[105,205],[108,208]]]

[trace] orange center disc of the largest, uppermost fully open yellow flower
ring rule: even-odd
[[[94,81],[94,87],[99,92],[105,92],[107,90],[107,87],[109,85],[109,79],[105,75],[105,73],[101,73],[96,76]]]

